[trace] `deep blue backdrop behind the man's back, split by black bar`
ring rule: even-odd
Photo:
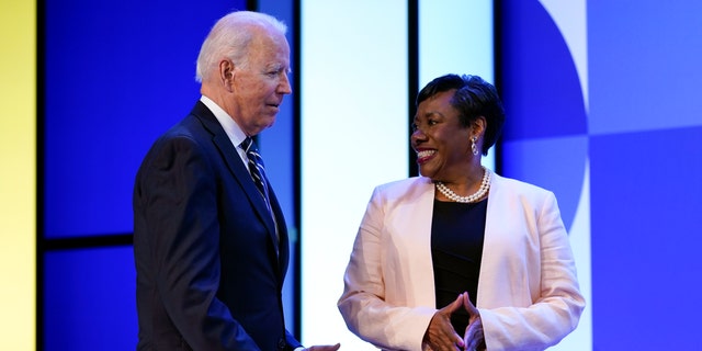
[[[132,189],[141,158],[199,99],[195,60],[212,25],[246,2],[46,0],[42,5],[41,235],[131,234]],[[45,350],[136,347],[131,246],[50,250],[43,263],[44,335],[37,339]]]

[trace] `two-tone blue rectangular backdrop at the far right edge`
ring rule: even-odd
[[[702,25],[697,1],[590,1],[598,350],[700,350]]]

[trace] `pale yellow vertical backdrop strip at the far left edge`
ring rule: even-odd
[[[0,350],[35,349],[36,1],[0,0]]]

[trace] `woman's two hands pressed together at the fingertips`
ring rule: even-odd
[[[463,337],[460,336],[451,325],[451,315],[461,308],[465,309],[469,317],[468,327]],[[485,335],[483,333],[483,321],[478,309],[471,303],[468,293],[463,293],[456,299],[439,309],[429,322],[429,328],[424,333],[424,343],[432,351],[455,351],[455,350],[485,350]]]

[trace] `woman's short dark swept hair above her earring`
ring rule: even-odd
[[[495,145],[505,125],[505,109],[497,94],[497,89],[483,78],[471,75],[445,75],[430,81],[417,94],[416,105],[444,91],[455,89],[451,105],[458,111],[458,118],[464,127],[469,126],[479,116],[485,117],[485,139],[483,155]]]

